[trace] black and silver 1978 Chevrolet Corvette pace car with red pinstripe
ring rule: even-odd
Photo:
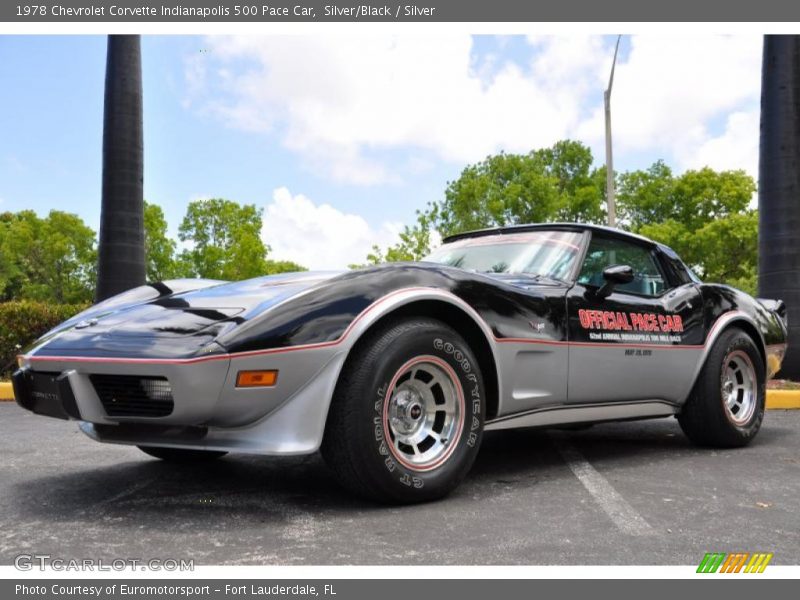
[[[165,460],[322,450],[351,490],[443,496],[487,430],[676,416],[742,446],[786,351],[786,310],[702,283],[603,227],[466,233],[425,261],[238,283],[177,280],[39,339],[19,404]]]

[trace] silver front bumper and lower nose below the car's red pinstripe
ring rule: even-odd
[[[20,406],[81,421],[81,430],[101,442],[307,454],[322,442],[345,356],[340,349],[320,348],[195,362],[29,357],[13,382]],[[251,369],[277,369],[277,385],[237,388],[236,374]],[[93,375],[163,377],[173,410],[159,417],[110,416]]]

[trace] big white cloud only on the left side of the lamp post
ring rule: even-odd
[[[188,75],[193,89],[206,78],[223,93],[208,109],[236,127],[278,132],[287,148],[350,183],[396,178],[390,165],[370,158],[395,148],[467,162],[563,138],[580,117],[576,96],[591,87],[585,75],[603,56],[599,38],[537,41],[533,75],[505,62],[486,81],[468,35],[213,37],[208,44],[213,51],[204,56],[225,73],[191,66]],[[250,66],[233,75],[237,60]]]

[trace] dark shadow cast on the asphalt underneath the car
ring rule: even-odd
[[[783,435],[779,428],[766,428],[756,445]],[[471,473],[445,501],[456,508],[471,507],[485,503],[498,489],[524,493],[528,487],[571,480],[573,475],[553,443],[555,436],[579,448],[598,469],[710,452],[691,446],[673,419],[598,425],[585,431],[489,432]],[[97,452],[102,448],[97,446]],[[82,449],[81,459],[84,456]],[[122,456],[137,455],[126,449]],[[232,455],[195,465],[169,464],[142,454],[141,460],[123,459],[100,467],[87,466],[84,460],[69,465],[58,475],[14,484],[12,497],[22,518],[96,521],[102,516],[140,528],[160,527],[164,518],[181,523],[202,518],[203,523],[249,527],[283,522],[298,511],[335,516],[418,509],[387,508],[353,497],[337,484],[319,454]]]

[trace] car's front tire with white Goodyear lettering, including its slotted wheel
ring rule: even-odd
[[[447,406],[459,407],[458,415],[445,413]],[[402,504],[434,500],[458,486],[472,467],[485,411],[478,361],[464,339],[434,319],[403,319],[368,334],[348,357],[322,454],[339,482],[359,496]],[[403,427],[410,437],[402,437]],[[422,438],[426,431],[429,437]],[[437,439],[424,449],[435,436],[448,434],[448,441]],[[421,441],[400,443],[415,436]]]

